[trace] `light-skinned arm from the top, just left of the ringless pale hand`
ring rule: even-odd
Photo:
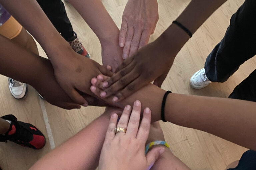
[[[123,61],[119,29],[100,0],[69,0],[100,40],[102,64],[115,70]]]

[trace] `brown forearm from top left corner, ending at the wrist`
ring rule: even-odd
[[[0,3],[10,12],[21,25],[39,42],[46,54],[56,51],[56,49],[70,50],[69,44],[62,38],[47,18],[36,0],[0,0]],[[52,61],[58,57],[58,54],[48,55]]]

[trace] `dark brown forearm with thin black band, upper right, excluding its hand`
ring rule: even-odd
[[[226,1],[227,0],[192,0],[176,21],[185,26],[193,34],[206,19]],[[163,41],[163,47],[165,47],[166,52],[174,54],[171,56],[175,57],[189,40],[189,35],[176,24],[171,24],[158,39]],[[172,48],[170,48],[170,46],[172,46]]]

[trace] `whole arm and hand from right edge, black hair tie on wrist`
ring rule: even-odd
[[[99,81],[92,79],[92,84],[97,87]],[[101,90],[94,85],[91,90],[100,97]],[[132,104],[134,100],[140,100],[142,108],[150,107],[152,121],[161,120],[161,104],[165,90],[155,85],[148,84],[140,91],[128,98],[113,102],[112,97],[105,100],[111,104],[123,108]],[[154,96],[152,98],[152,96]],[[174,124],[202,130],[241,146],[256,149],[256,104],[255,102],[183,95],[171,93],[168,95],[165,105],[165,119]]]

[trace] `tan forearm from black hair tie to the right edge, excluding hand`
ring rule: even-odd
[[[256,103],[237,99],[169,94],[165,117],[256,150]]]

